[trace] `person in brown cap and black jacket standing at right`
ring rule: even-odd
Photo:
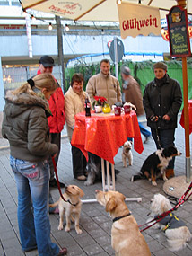
[[[157,62],[153,65],[155,78],[146,85],[144,90],[144,110],[147,125],[152,130],[152,136],[158,149],[174,146],[175,128],[182,93],[178,81],[167,74],[167,65]],[[174,176],[173,158],[167,167],[167,177]]]

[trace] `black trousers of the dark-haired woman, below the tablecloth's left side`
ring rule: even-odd
[[[82,151],[75,146],[72,146],[72,163],[74,178],[77,178],[86,172],[87,160]]]

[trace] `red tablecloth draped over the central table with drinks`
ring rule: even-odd
[[[141,154],[144,146],[135,111],[118,117],[92,113],[90,118],[82,112],[75,116],[71,144],[80,148],[87,160],[87,152],[91,152],[114,164],[113,158],[127,137],[134,138],[135,151]]]

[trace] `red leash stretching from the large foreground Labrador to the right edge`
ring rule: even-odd
[[[152,223],[154,221],[153,224],[144,227],[142,230],[140,230],[140,232],[143,232],[144,230],[146,230],[146,229],[150,228],[151,226],[155,225],[156,223],[160,222],[161,219],[163,219],[165,216],[168,216],[172,211],[177,210],[178,207],[180,205],[182,205],[185,201],[187,201],[188,198],[191,196],[192,192],[188,195],[188,192],[189,192],[189,190],[191,190],[191,188],[192,188],[192,181],[191,181],[190,185],[188,186],[188,190],[186,190],[186,192],[182,195],[182,197],[179,199],[178,204],[175,207],[172,207],[170,210],[162,213],[160,216],[156,216],[155,218],[153,218],[153,220],[151,220],[143,225],[139,225],[139,227],[141,227],[141,226],[147,225],[149,223]],[[187,195],[188,195],[188,197],[187,197]]]

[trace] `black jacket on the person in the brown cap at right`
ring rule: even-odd
[[[182,93],[178,81],[171,79],[169,75],[166,75],[165,83],[161,85],[157,85],[153,80],[144,89],[143,103],[149,127],[177,128],[177,116],[182,104]],[[162,119],[165,114],[170,117],[170,121]],[[153,115],[159,117],[156,123],[150,119]]]

